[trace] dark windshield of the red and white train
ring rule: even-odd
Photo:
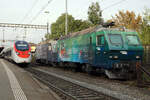
[[[15,43],[16,45],[16,49],[17,50],[20,50],[20,51],[26,51],[26,50],[29,50],[29,45],[27,42],[25,41],[17,41]]]

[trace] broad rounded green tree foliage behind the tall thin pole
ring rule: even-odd
[[[68,33],[81,31],[90,27],[91,24],[88,21],[75,20],[72,15],[68,15]],[[51,35],[46,34],[45,38],[54,39],[65,35],[65,14],[62,14],[55,23],[51,25]]]

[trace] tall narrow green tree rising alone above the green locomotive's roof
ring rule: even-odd
[[[92,3],[91,6],[88,9],[88,20],[93,24],[93,25],[99,25],[103,23],[102,19],[102,11],[100,9],[100,6],[98,2]]]

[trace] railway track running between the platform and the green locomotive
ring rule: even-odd
[[[26,70],[55,91],[62,100],[118,100],[35,68],[27,68]]]

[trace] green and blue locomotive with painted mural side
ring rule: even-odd
[[[88,73],[105,72],[109,78],[134,76],[143,47],[137,32],[93,27],[57,41],[58,63],[72,64]]]

